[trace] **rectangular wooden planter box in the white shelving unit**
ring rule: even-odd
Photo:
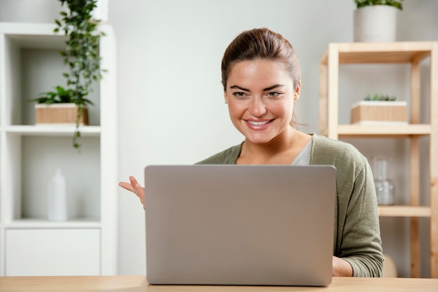
[[[76,125],[76,104],[35,104],[35,125]],[[84,107],[80,125],[88,125],[88,111]]]

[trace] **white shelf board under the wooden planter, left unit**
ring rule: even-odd
[[[22,136],[61,136],[73,135],[76,127],[74,125],[12,125],[5,127],[7,133],[20,134]],[[101,129],[99,126],[82,126],[79,132],[83,137],[99,137]]]

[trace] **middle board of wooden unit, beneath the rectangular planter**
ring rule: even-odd
[[[430,125],[338,125],[339,137],[411,137],[430,135]]]

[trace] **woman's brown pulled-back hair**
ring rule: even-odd
[[[236,36],[222,58],[222,85],[227,90],[227,80],[234,64],[248,60],[275,60],[283,62],[292,78],[294,90],[301,81],[301,70],[295,49],[281,34],[267,28],[250,29]]]

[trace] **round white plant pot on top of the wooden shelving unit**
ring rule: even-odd
[[[395,41],[397,8],[388,5],[374,5],[354,11],[354,41]]]

